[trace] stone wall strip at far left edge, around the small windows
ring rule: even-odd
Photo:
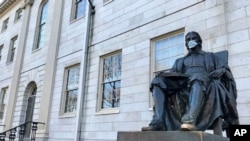
[[[14,57],[13,62],[8,63],[8,54],[10,49],[10,43],[11,39],[15,36],[20,36],[20,29],[22,26],[22,18],[18,21],[15,21],[15,14],[16,10],[18,10],[21,7],[21,4],[19,2],[15,2],[13,6],[11,7],[11,10],[6,11],[4,14],[0,17],[0,45],[4,45],[2,52],[1,52],[1,60],[0,60],[0,89],[8,87],[7,93],[6,93],[6,101],[9,100],[10,95],[10,89],[11,89],[11,82],[12,82],[12,76],[14,72],[14,66],[16,62],[16,56]],[[8,27],[6,30],[2,31],[3,27],[3,21],[9,18]],[[2,121],[0,121],[0,125],[5,125],[6,121],[6,114],[7,112],[7,105],[5,106],[5,112],[4,117]],[[4,126],[1,126],[2,130],[4,130]],[[1,130],[1,131],[2,131]]]

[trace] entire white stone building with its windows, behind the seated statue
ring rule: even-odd
[[[43,122],[37,138],[115,141],[152,118],[149,84],[187,53],[228,50],[241,124],[250,121],[248,0],[4,0],[0,128]],[[93,12],[93,13],[91,13]],[[5,106],[6,105],[6,106]]]

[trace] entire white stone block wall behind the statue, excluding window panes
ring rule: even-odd
[[[20,79],[16,82],[18,86],[12,126],[24,122],[27,105],[25,90],[30,82],[35,82],[38,89],[33,120],[46,122],[46,127],[42,127],[45,131],[39,131],[39,137],[44,137],[40,134],[46,133],[50,141],[76,140],[78,124],[81,124],[81,140],[84,141],[115,141],[118,131],[140,131],[141,127],[148,125],[153,114],[149,92],[152,40],[179,29],[185,33],[192,30],[199,32],[205,51],[228,50],[229,66],[237,83],[240,123],[249,124],[248,0],[113,0],[108,4],[103,4],[103,0],[93,0],[96,13],[91,27],[92,36],[89,36],[91,45],[87,52],[87,79],[79,84],[84,90],[79,92],[79,95],[83,94],[84,101],[80,101],[83,107],[78,107],[78,111],[83,113],[77,112],[70,116],[60,114],[64,72],[65,68],[75,64],[80,64],[80,72],[83,72],[87,18],[85,15],[71,21],[72,1],[50,0],[45,45],[32,51],[41,2],[36,0],[31,7],[24,54],[21,57],[23,61],[18,75]],[[10,39],[15,35],[23,36],[20,35],[22,19],[14,22],[15,12],[21,6],[22,2],[18,1],[0,15],[0,28],[3,21],[10,17],[8,29],[0,33],[0,45],[4,44],[0,61],[0,88],[11,89],[12,76],[17,71],[14,69],[16,60],[6,64],[6,59]],[[51,50],[54,60],[53,56],[50,60]],[[122,52],[119,111],[100,112],[97,106],[101,57],[118,50]],[[48,64],[50,61],[52,64]],[[46,100],[47,103],[44,102]],[[6,117],[0,124],[5,124],[5,121]]]

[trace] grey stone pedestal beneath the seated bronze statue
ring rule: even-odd
[[[201,131],[144,131],[118,132],[117,141],[229,141],[229,139]]]

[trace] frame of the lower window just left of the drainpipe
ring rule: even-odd
[[[71,69],[76,69],[78,68],[78,83],[77,83],[77,88],[67,90],[68,86],[68,78],[69,78],[69,72]],[[77,100],[78,100],[78,95],[79,95],[79,81],[80,81],[80,64],[75,64],[69,67],[66,67],[64,70],[64,77],[63,77],[63,94],[62,94],[62,100],[61,100],[61,108],[60,108],[60,116],[75,116],[76,110],[77,110]],[[69,91],[77,91],[77,96],[76,96],[76,102],[75,102],[75,111],[72,112],[65,112],[66,110],[66,103],[67,103],[67,94]]]

